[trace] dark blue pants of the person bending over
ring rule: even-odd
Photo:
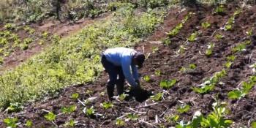
[[[102,65],[108,72],[109,80],[107,85],[108,94],[112,95],[115,84],[118,94],[124,93],[124,73],[121,67],[112,64],[106,59],[105,55],[102,55]]]

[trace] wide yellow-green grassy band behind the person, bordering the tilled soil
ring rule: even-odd
[[[113,12],[113,18],[87,26],[66,39],[53,38],[48,50],[0,76],[0,107],[32,101],[58,89],[94,81],[102,71],[102,50],[132,46],[162,23],[167,7],[135,15],[132,4]]]

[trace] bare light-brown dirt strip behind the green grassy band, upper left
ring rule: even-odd
[[[42,31],[48,31],[50,34],[57,34],[64,38],[69,37],[70,35],[72,36],[72,34],[75,34],[77,31],[80,31],[85,26],[94,23],[97,20],[105,20],[106,18],[110,18],[109,12],[94,19],[84,18],[78,20],[76,23],[60,23],[59,21],[48,20],[45,21],[45,23],[31,24],[30,26],[37,31],[38,35],[40,35]],[[41,24],[43,25],[41,26]],[[24,34],[24,31],[19,31],[19,37],[20,39],[23,39],[27,36]],[[39,43],[34,42],[29,46],[28,50],[15,50],[14,53],[4,59],[4,64],[1,65],[1,71],[17,67],[23,61],[31,58],[31,56],[34,56],[45,48],[48,48],[50,42],[50,39],[47,39],[43,45],[39,45]]]

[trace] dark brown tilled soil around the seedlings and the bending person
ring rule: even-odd
[[[222,30],[236,8],[236,5],[227,5],[225,15],[213,14],[212,7],[199,7],[182,12],[179,12],[180,10],[170,10],[162,26],[135,46],[136,49],[143,51],[148,56],[140,74],[142,77],[144,75],[150,76],[151,80],[148,82],[141,80],[141,86],[148,91],[152,91],[153,94],[164,92],[161,101],[154,102],[147,99],[144,102],[137,102],[135,99],[130,99],[129,101],[120,102],[114,100],[113,108],[105,110],[100,104],[108,101],[105,94],[108,75],[102,72],[102,75],[94,83],[63,89],[55,97],[26,105],[26,108],[20,113],[2,113],[0,115],[0,127],[5,127],[2,120],[7,117],[18,117],[21,124],[31,120],[34,127],[64,127],[64,124],[70,119],[78,121],[75,127],[118,127],[116,118],[122,118],[126,121],[124,127],[160,127],[160,125],[174,127],[175,122],[167,123],[165,121],[166,116],[178,114],[181,116],[179,121],[191,121],[197,110],[200,110],[206,116],[213,111],[211,105],[215,102],[215,95],[218,95],[222,102],[227,102],[227,108],[230,108],[231,113],[226,118],[234,121],[232,127],[249,127],[251,121],[256,121],[255,87],[246,97],[238,100],[228,99],[227,93],[236,89],[242,80],[248,80],[249,76],[253,75],[249,66],[255,64],[256,61],[256,41],[254,36],[248,37],[246,31],[249,29],[256,31],[256,8],[243,9],[241,14],[236,17],[233,29],[231,31]],[[162,39],[167,38],[166,33],[178,23],[181,23],[188,12],[194,13],[192,18],[184,23],[184,28],[176,37],[170,39],[171,44],[163,45],[159,43]],[[210,28],[203,29],[200,26],[205,21],[211,23]],[[200,31],[197,40],[187,42],[189,35],[195,31]],[[225,37],[216,39],[214,34],[222,34]],[[236,53],[237,59],[230,69],[227,69],[227,76],[221,80],[224,84],[217,84],[214,91],[206,94],[197,94],[192,91],[193,86],[203,83],[206,78],[225,68],[226,57],[233,54],[232,48],[246,39],[250,39],[252,44],[247,45],[245,51]],[[213,54],[207,57],[205,51],[210,42],[214,43],[215,47]],[[187,50],[184,50],[183,53],[177,53],[181,45]],[[189,72],[180,71],[181,67],[189,67],[189,64],[195,64],[196,68]],[[160,71],[160,75],[156,75],[156,71]],[[176,85],[163,91],[159,87],[159,82],[170,79],[176,79]],[[89,91],[91,92],[89,93]],[[70,98],[73,93],[80,94],[79,101]],[[89,104],[80,102],[90,97],[96,97],[96,99]],[[184,103],[190,105],[191,109],[187,113],[179,114],[176,109]],[[61,107],[70,105],[77,106],[75,112],[61,113]],[[98,113],[95,114],[96,116],[89,117],[83,113],[84,108],[91,108],[91,106],[94,106],[95,113]],[[56,121],[51,122],[44,118],[48,111],[58,115]],[[138,119],[135,121],[127,119],[127,113],[136,113]],[[21,124],[20,127],[22,127]]]

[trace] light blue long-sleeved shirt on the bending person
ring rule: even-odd
[[[135,80],[139,78],[138,69],[135,64],[132,64],[132,56],[135,53],[137,53],[136,50],[129,48],[110,48],[103,53],[108,61],[116,66],[121,66],[124,77],[131,86],[137,86]]]

